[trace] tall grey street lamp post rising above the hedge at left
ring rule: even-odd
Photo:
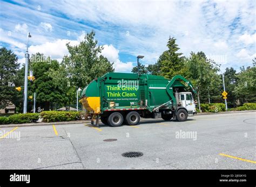
[[[23,113],[27,112],[28,105],[28,66],[29,66],[29,38],[31,38],[28,32],[28,37],[26,40],[26,53],[25,53],[25,77],[24,77],[24,103],[23,103]]]

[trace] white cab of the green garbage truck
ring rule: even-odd
[[[179,103],[187,109],[188,116],[194,116],[196,104],[191,92],[179,92]]]

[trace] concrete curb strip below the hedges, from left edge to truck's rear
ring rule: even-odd
[[[30,123],[30,124],[8,124],[0,125],[1,127],[27,127],[27,126],[43,126],[43,125],[69,125],[69,124],[84,124],[89,120],[79,120],[79,121],[60,121],[60,122],[50,122],[50,123]]]

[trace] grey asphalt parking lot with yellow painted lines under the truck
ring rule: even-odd
[[[0,126],[0,169],[256,169],[255,120],[246,112],[120,127]]]

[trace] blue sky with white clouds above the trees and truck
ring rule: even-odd
[[[0,1],[0,46],[24,63],[29,52],[59,61],[65,44],[79,44],[96,31],[102,52],[119,72],[130,72],[136,56],[155,63],[169,36],[180,52],[203,51],[221,69],[251,66],[256,56],[256,1]]]

